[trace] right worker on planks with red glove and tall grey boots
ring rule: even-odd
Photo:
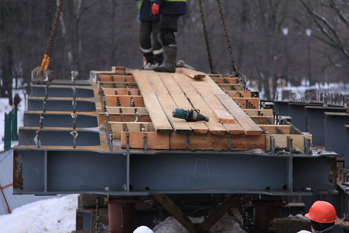
[[[160,15],[159,40],[163,48],[163,62],[154,67],[157,72],[176,72],[178,18],[187,14],[187,0],[154,0],[152,13]]]

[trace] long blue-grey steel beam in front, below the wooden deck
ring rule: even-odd
[[[23,189],[15,189],[16,194],[335,192],[335,179],[329,176],[336,173],[335,154],[294,156],[213,151],[127,154],[41,148],[17,148],[15,153],[20,158],[23,178]]]

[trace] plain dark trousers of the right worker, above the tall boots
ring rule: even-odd
[[[163,46],[176,45],[179,15],[160,15],[160,39]]]

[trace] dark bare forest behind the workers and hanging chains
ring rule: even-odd
[[[13,77],[30,82],[31,71],[41,65],[58,2],[0,1],[1,97],[11,96]],[[188,14],[179,21],[178,59],[209,73],[199,3],[187,2]],[[214,71],[232,73],[217,0],[202,2]],[[258,80],[267,97],[273,97],[269,83],[275,87],[278,78],[294,85],[309,76],[312,83],[349,81],[348,0],[221,3],[238,68]],[[70,71],[78,70],[79,78],[87,79],[90,70],[141,68],[138,28],[136,1],[66,0],[49,69],[56,78],[70,78]]]

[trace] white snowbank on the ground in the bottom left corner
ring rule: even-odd
[[[32,202],[0,215],[0,233],[70,233],[76,227],[78,194]]]

